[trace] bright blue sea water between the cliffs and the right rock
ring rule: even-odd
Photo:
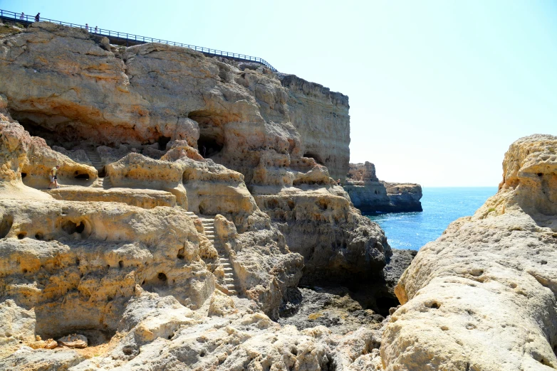
[[[496,187],[422,188],[422,213],[366,215],[378,222],[390,247],[418,250],[436,240],[454,220],[474,215],[497,192]]]

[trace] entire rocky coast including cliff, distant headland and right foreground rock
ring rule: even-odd
[[[0,369],[557,368],[556,136],[512,144],[474,216],[391,249],[362,212],[421,210],[421,187],[349,165],[345,95],[0,28]]]

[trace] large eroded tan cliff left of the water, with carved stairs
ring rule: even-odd
[[[259,65],[0,36],[0,368],[380,367],[370,308],[348,334],[272,321],[301,279],[373,282],[391,255],[330,178],[348,120],[348,97]]]

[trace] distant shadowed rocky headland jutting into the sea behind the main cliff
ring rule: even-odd
[[[375,175],[375,165],[367,161],[350,163],[343,186],[355,208],[363,213],[422,211],[421,185],[380,181]]]

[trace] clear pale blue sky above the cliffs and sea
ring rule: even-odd
[[[557,1],[22,1],[0,8],[264,58],[350,97],[380,179],[496,185],[557,135]]]

